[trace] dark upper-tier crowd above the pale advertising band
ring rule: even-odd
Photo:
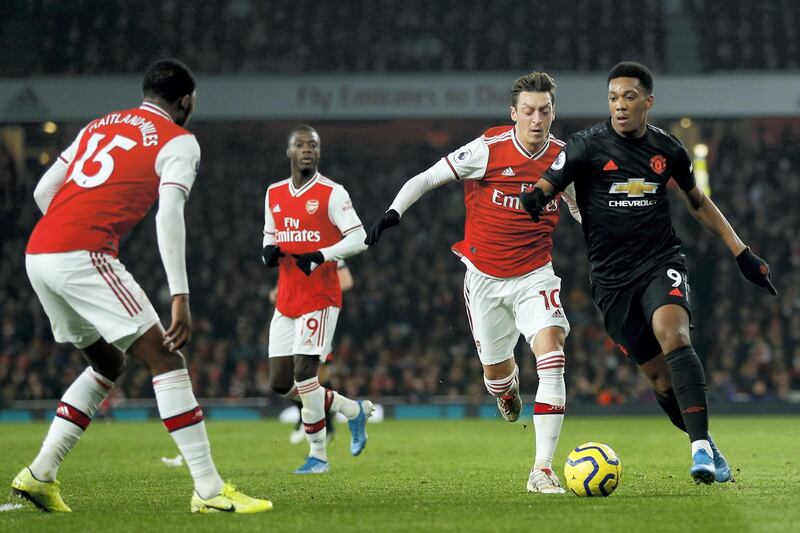
[[[213,0],[193,9],[174,0],[12,0],[0,17],[0,49],[8,51],[0,54],[0,76],[138,73],[160,56],[206,73],[518,71],[531,63],[604,71],[620,57],[668,72],[670,32],[696,35],[704,72],[800,68],[800,4],[792,0],[527,7],[520,12],[513,0]]]

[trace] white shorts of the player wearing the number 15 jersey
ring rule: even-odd
[[[57,342],[86,348],[102,337],[124,352],[159,323],[142,288],[108,254],[31,254],[25,268]]]

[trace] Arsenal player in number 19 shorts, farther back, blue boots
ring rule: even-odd
[[[278,267],[278,297],[269,328],[272,389],[288,399],[300,397],[301,418],[310,452],[296,474],[328,471],[325,414],[349,420],[350,453],[367,444],[369,400],[355,401],[319,384],[319,364],[333,344],[342,306],[336,264],[366,250],[364,227],[347,191],[318,171],[319,134],[298,126],[289,135],[286,155],[292,175],[267,189],[264,200],[263,260]]]

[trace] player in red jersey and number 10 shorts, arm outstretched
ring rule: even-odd
[[[381,233],[398,224],[426,192],[463,180],[464,240],[453,245],[453,252],[467,269],[467,318],[486,388],[497,397],[497,406],[509,422],[516,421],[522,410],[514,361],[520,333],[536,356],[536,456],[527,487],[541,493],[564,492],[552,460],[566,404],[564,340],[569,322],[559,299],[561,279],[550,262],[558,198],[548,204],[539,222],[533,222],[522,210],[518,195],[539,180],[563,146],[550,135],[555,89],[553,79],[543,72],[518,79],[511,89],[514,125],[488,129],[408,180],[366,240],[367,244],[378,242]]]

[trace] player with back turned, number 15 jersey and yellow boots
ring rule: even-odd
[[[58,342],[71,342],[90,366],[67,389],[39,455],[12,483],[45,511],[70,512],[56,474],[125,368],[125,354],[153,375],[158,411],[194,479],[192,512],[272,509],[223,483],[211,458],[203,411],[178,351],[192,331],[183,207],[200,147],[182,126],[195,103],[194,78],[174,60],[151,65],[144,102],[90,122],[42,177],[34,198],[44,216],[33,230],[26,267]],[[120,239],[159,199],[158,247],[172,294],[172,324],[158,315],[117,259]]]

